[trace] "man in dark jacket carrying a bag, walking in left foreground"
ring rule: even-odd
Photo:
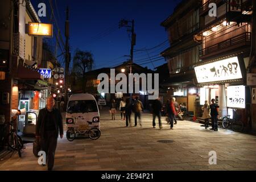
[[[60,111],[54,108],[53,97],[47,98],[47,106],[39,111],[36,123],[36,138],[41,139],[42,150],[48,157],[47,167],[51,171],[54,165],[57,138],[63,138],[63,122]]]

